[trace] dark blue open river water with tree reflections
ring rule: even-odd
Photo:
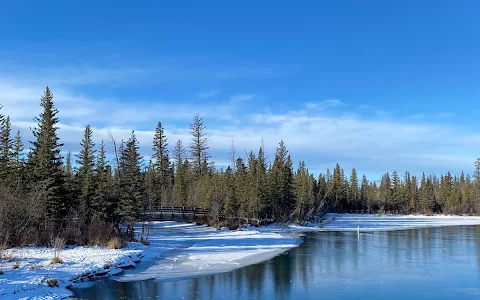
[[[200,278],[105,281],[85,299],[478,299],[480,227],[311,233],[271,261]]]

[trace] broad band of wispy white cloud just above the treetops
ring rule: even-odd
[[[21,128],[26,140],[31,140],[29,128],[35,125],[32,117],[40,112],[44,86],[6,78],[0,76],[2,112],[12,117],[13,125]],[[86,79],[84,82],[91,84]],[[107,84],[100,79],[96,82]],[[258,149],[263,138],[270,156],[283,139],[293,158],[304,159],[310,169],[333,167],[340,162],[347,169],[356,167],[366,173],[393,169],[458,172],[471,169],[478,155],[474,149],[480,148],[480,136],[464,128],[427,124],[420,114],[417,122],[395,119],[382,110],[373,110],[375,117],[365,117],[349,113],[350,107],[337,99],[307,102],[285,113],[261,113],[263,110],[248,110],[258,97],[252,93],[231,94],[218,97],[216,103],[193,106],[189,101],[152,103],[86,96],[70,89],[68,84],[59,84],[53,92],[62,122],[59,134],[65,149],[72,151],[78,151],[86,124],[92,125],[97,143],[107,140],[109,131],[120,140],[127,139],[132,129],[138,129],[136,133],[146,156],[150,155],[157,121],[164,123],[171,145],[178,139],[188,145],[188,123],[197,113],[205,117],[210,151],[217,162],[228,161],[232,140],[243,154]]]

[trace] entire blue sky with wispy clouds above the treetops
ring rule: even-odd
[[[0,1],[0,103],[30,138],[46,85],[65,151],[155,124],[213,160],[284,139],[315,171],[470,172],[480,156],[478,1]],[[373,179],[373,178],[372,178]]]

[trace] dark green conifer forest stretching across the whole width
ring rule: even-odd
[[[110,136],[95,145],[89,125],[81,151],[63,157],[48,87],[40,105],[29,151],[19,131],[12,135],[9,117],[0,114],[0,246],[46,244],[53,236],[80,244],[105,244],[118,235],[131,239],[134,224],[155,206],[206,208],[215,226],[302,223],[325,212],[480,212],[480,160],[473,180],[463,173],[416,178],[405,172],[400,178],[394,171],[377,184],[358,178],[355,169],[346,176],[338,164],[333,174],[327,170],[318,178],[303,161],[294,169],[283,141],[273,162],[266,161],[263,145],[241,158],[232,142],[230,166],[219,168],[210,161],[198,115],[188,145],[179,140],[169,147],[159,122],[150,161],[140,155],[134,131],[127,141]],[[111,161],[106,143],[113,149]]]

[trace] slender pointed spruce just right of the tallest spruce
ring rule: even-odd
[[[76,155],[78,168],[77,176],[80,186],[80,210],[86,217],[86,221],[91,219],[91,202],[94,194],[94,181],[93,172],[95,166],[95,144],[92,141],[93,132],[90,129],[90,125],[85,127],[85,133],[83,135],[82,150]]]

